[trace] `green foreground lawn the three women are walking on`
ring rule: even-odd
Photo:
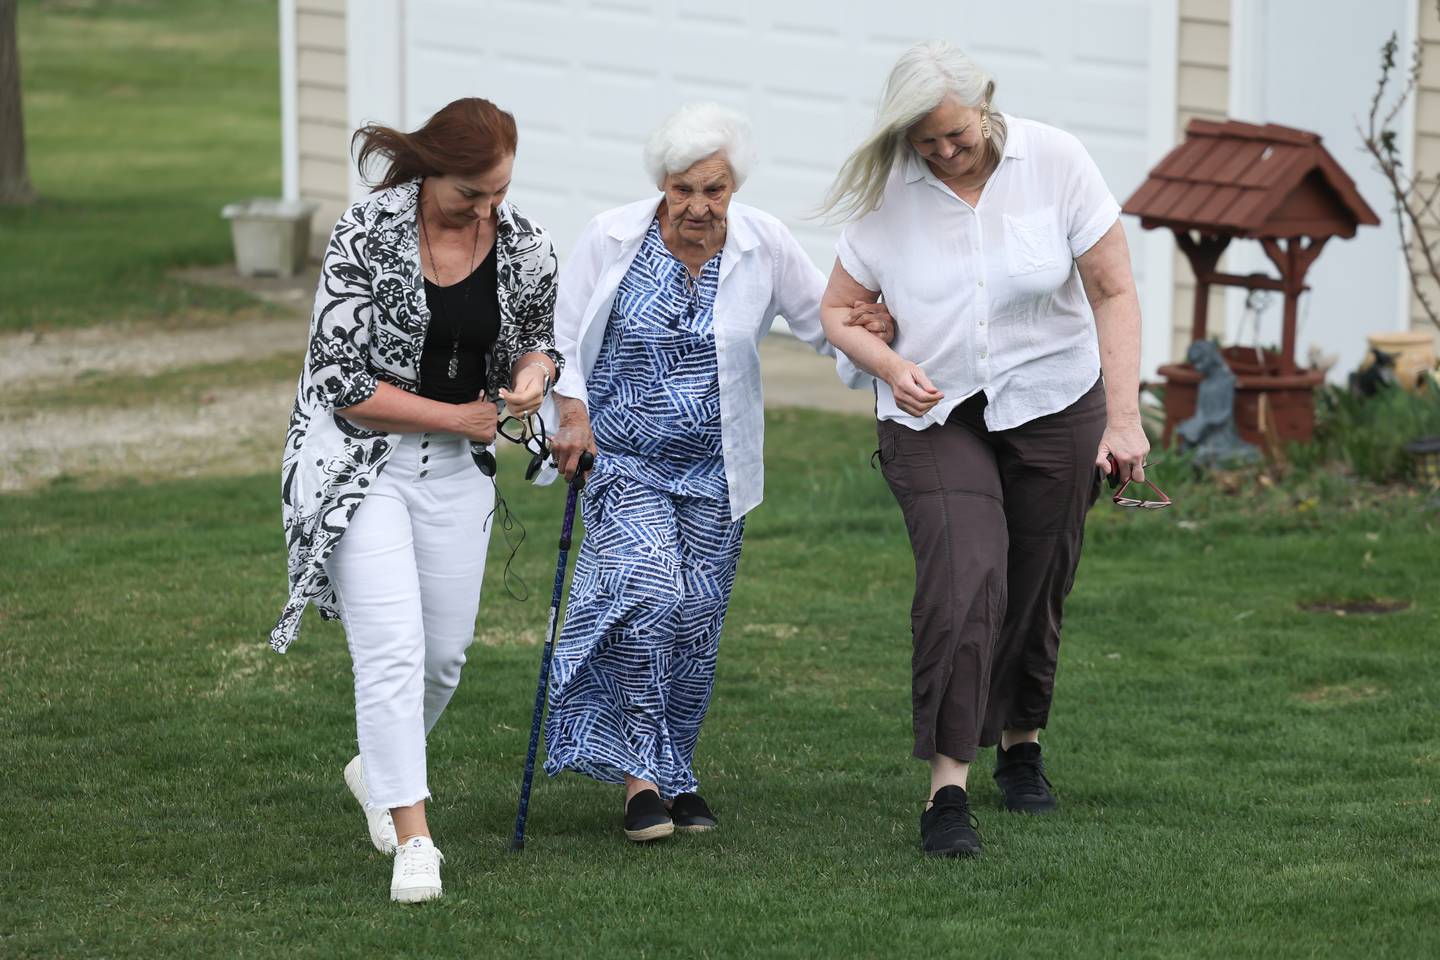
[[[985,853],[917,849],[912,561],[873,429],[770,417],[698,771],[710,836],[628,846],[619,797],[537,783],[507,852],[562,491],[431,743],[446,897],[386,901],[340,770],[340,630],[265,646],[274,472],[0,498],[0,956],[1433,956],[1440,944],[1437,528],[1418,498],[1172,491],[1092,514],[1045,737],[1063,812]],[[514,476],[517,462],[503,461]],[[1332,505],[1333,504],[1333,505]],[[1185,525],[1179,525],[1184,521]],[[1308,600],[1413,602],[1390,616]]]

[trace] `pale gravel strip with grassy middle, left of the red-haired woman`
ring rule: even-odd
[[[304,315],[0,335],[0,491],[279,468]]]

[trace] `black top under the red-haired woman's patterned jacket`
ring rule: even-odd
[[[500,335],[500,299],[495,292],[495,248],[458,284],[439,286],[425,281],[431,327],[420,353],[420,396],[442,403],[469,403],[485,389],[485,357]],[[459,350],[454,350],[455,337]],[[455,376],[449,376],[451,356]],[[488,397],[494,400],[494,397]]]

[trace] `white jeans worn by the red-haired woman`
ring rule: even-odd
[[[325,570],[356,676],[367,806],[431,796],[425,737],[475,635],[495,488],[449,433],[397,435]]]

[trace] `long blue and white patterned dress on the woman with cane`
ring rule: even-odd
[[[550,675],[546,771],[625,774],[671,799],[714,687],[744,521],[730,520],[714,299],[720,255],[691,279],[658,220],[615,295],[586,381],[599,456]]]

